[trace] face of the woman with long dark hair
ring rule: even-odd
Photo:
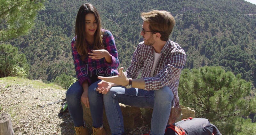
[[[85,15],[85,33],[88,36],[93,36],[97,30],[97,22],[93,13]]]

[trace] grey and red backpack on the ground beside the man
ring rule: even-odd
[[[204,118],[182,119],[174,125],[168,125],[164,135],[221,135],[220,131]]]

